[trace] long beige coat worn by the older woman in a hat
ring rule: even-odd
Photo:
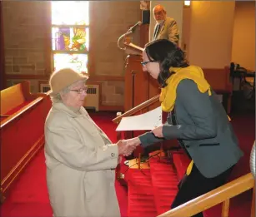
[[[54,217],[118,217],[117,145],[85,109],[53,103],[45,123],[48,193]]]

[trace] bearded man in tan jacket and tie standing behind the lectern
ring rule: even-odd
[[[174,44],[178,45],[179,32],[177,22],[166,16],[166,11],[162,5],[153,7],[153,17],[157,22],[153,31],[153,40],[168,39]]]

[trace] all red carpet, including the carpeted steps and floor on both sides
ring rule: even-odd
[[[116,125],[111,121],[115,114],[92,113],[91,116],[98,126],[108,134],[109,138],[115,142],[116,133],[114,130]],[[250,114],[233,116],[232,123],[244,152],[243,159],[239,161],[236,170],[233,171],[231,179],[234,179],[249,171],[248,156],[255,138],[255,117]],[[128,170],[126,173],[128,192],[123,185],[116,181],[118,201],[123,217],[156,216],[168,210],[169,205],[171,205],[174,193],[177,190],[178,176],[176,175],[177,177],[175,178],[172,165],[159,164],[156,159],[150,160],[150,166],[150,171]],[[123,166],[121,170],[127,170],[127,166]],[[52,217],[52,210],[48,201],[45,171],[42,150],[25,170],[17,184],[13,186],[8,199],[1,207],[1,216]],[[231,217],[249,216],[250,193],[248,191],[231,200]],[[205,212],[205,216],[220,216],[220,206],[215,206],[208,210]]]

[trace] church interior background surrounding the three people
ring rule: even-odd
[[[160,106],[158,83],[141,65],[158,4],[176,20],[189,64],[202,67],[218,94],[243,157],[227,184],[170,210],[187,155],[177,141],[137,148],[116,168],[121,216],[255,216],[255,2],[1,1],[2,216],[53,216],[43,147],[52,106],[48,80],[56,69],[88,75],[83,106],[113,143],[145,132],[116,129],[123,117]]]

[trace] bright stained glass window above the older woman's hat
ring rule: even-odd
[[[89,2],[52,2],[53,70],[88,72]]]

